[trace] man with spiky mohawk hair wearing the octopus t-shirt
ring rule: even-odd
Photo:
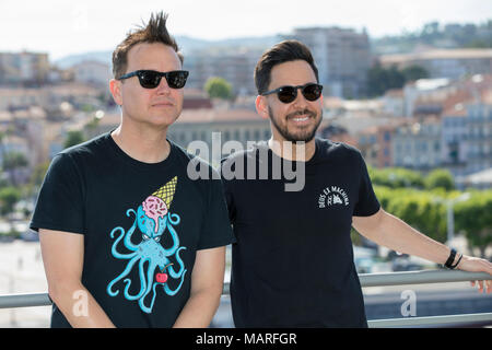
[[[203,163],[191,180],[194,156],[166,139],[188,78],[166,20],[113,52],[120,125],[57,154],[39,191],[51,327],[207,327],[219,306],[234,236],[220,176]]]

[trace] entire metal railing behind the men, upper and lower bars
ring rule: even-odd
[[[425,270],[410,272],[388,272],[388,273],[361,273],[359,275],[361,285],[383,287],[383,285],[402,285],[402,284],[426,284],[444,282],[464,282],[475,280],[491,280],[492,276],[485,272],[465,272],[449,270]],[[223,295],[230,293],[229,283],[224,284]],[[0,308],[49,306],[51,301],[48,293],[31,294],[9,294],[0,295]],[[387,327],[412,327],[412,326],[432,326],[432,325],[453,325],[453,324],[475,324],[492,323],[492,313],[445,315],[430,317],[406,317],[389,319],[368,320],[368,326],[374,328]]]

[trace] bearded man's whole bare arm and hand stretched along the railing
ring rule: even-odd
[[[443,265],[449,257],[450,249],[447,246],[420,233],[383,209],[371,217],[353,217],[352,225],[368,240],[400,253],[419,256]],[[458,256],[455,257],[454,264],[457,259]],[[466,255],[462,256],[457,268],[464,271],[492,275],[490,261]],[[480,291],[482,291],[483,282],[480,281],[479,284]],[[487,281],[487,291],[492,292],[492,280]]]

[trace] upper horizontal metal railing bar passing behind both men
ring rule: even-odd
[[[485,272],[424,270],[410,272],[361,273],[359,275],[359,279],[362,287],[378,287],[490,280],[492,279],[492,276]],[[230,283],[224,283],[222,295],[229,294]],[[51,305],[48,293],[0,295],[0,308],[47,305]]]

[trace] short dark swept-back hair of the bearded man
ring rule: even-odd
[[[271,70],[274,66],[294,60],[304,60],[309,63],[316,75],[316,81],[319,82],[318,69],[309,48],[298,40],[284,40],[265,51],[256,65],[255,84],[258,94],[261,95],[267,92],[270,84]]]

